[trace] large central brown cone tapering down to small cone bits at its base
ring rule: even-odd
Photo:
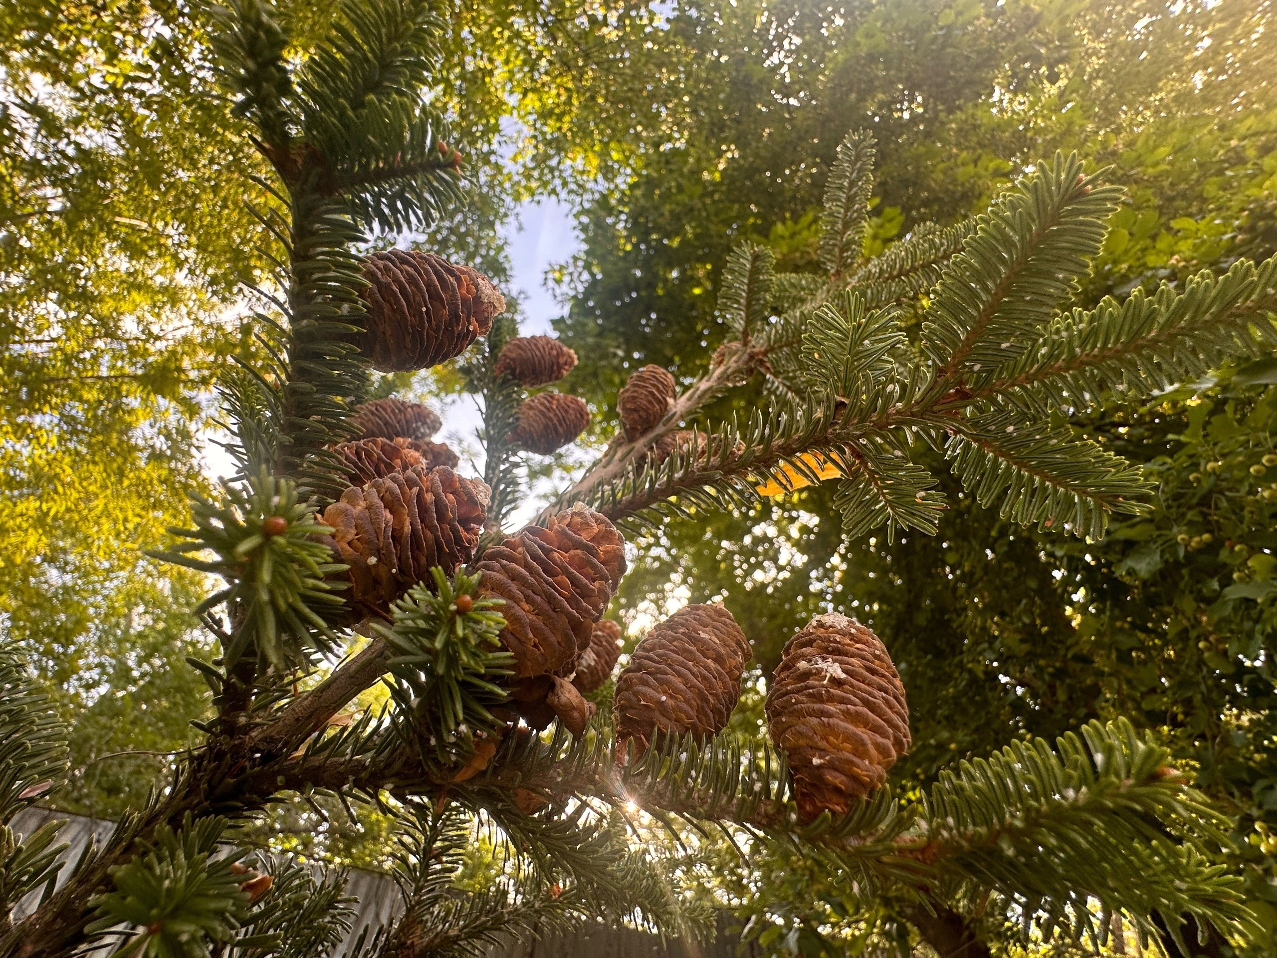
[[[566,676],[624,575],[621,533],[578,506],[489,548],[475,568],[483,574],[479,593],[506,600],[501,641],[515,658],[515,709],[534,727],[558,715],[580,732],[593,708]]]

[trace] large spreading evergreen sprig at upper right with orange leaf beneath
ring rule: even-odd
[[[826,197],[829,224],[849,224],[847,197],[865,193],[849,185],[849,169]],[[584,498],[614,520],[651,522],[750,507],[830,478],[824,466],[833,465],[843,476],[838,505],[849,534],[881,526],[889,539],[907,529],[933,533],[945,505],[935,478],[913,461],[923,442],[944,450],[967,489],[1002,516],[1099,538],[1111,516],[1140,512],[1151,487],[1138,469],[1065,428],[1061,407],[1110,390],[1147,396],[1226,356],[1277,344],[1277,259],[1240,262],[1218,278],[1200,275],[1183,293],[1163,286],[1125,304],[1061,313],[1119,197],[1061,155],[973,225],[921,231],[849,280],[767,275],[790,303],[761,336],[759,365],[778,384],[770,406],[746,428],[710,425],[697,455],[684,450],[661,464],[635,456],[605,482],[587,475],[561,506]],[[746,263],[764,262],[757,250],[734,255],[722,293],[733,317],[757,285]],[[875,307],[880,284],[907,275],[940,277],[923,310],[921,349],[903,316]]]

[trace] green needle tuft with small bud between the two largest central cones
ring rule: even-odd
[[[388,665],[406,737],[423,756],[448,761],[472,750],[475,733],[502,727],[489,709],[506,700],[495,682],[512,674],[513,655],[497,637],[503,599],[476,598],[479,575],[457,572],[451,582],[438,567],[430,575],[433,591],[414,586],[392,605],[393,623],[373,627],[393,650]],[[458,609],[461,597],[469,611]]]

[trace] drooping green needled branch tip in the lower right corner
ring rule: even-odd
[[[1066,733],[1057,752],[1039,738],[959,763],[922,802],[927,852],[1020,904],[1025,926],[1039,916],[1047,938],[1059,929],[1103,941],[1107,924],[1088,907],[1097,899],[1142,935],[1156,915],[1172,927],[1193,915],[1258,940],[1241,879],[1214,861],[1230,844],[1227,819],[1180,784],[1168,757],[1120,720]]]

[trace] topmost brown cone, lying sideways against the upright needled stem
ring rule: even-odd
[[[364,261],[366,330],[351,342],[383,373],[427,369],[465,353],[492,328],[506,300],[469,266],[415,250]]]

